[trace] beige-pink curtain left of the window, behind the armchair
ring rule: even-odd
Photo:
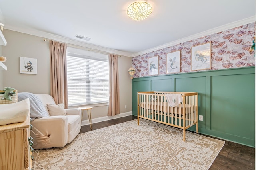
[[[50,40],[51,95],[56,104],[64,103],[68,108],[67,45]]]

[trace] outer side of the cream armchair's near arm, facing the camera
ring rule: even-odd
[[[63,147],[68,141],[68,118],[66,116],[49,116],[34,119],[31,122],[31,136],[34,149]]]

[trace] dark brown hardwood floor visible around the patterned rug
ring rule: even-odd
[[[137,119],[136,116],[126,116],[92,124],[92,129],[115,125]],[[80,133],[91,131],[90,125],[81,127]],[[218,138],[216,138],[218,139]],[[223,139],[221,139],[223,140]],[[225,141],[225,145],[214,160],[210,170],[254,170],[255,168],[255,148],[240,145],[238,143]]]

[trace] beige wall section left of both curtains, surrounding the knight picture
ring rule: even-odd
[[[50,52],[48,43],[36,37],[4,29],[7,71],[3,72],[3,86],[13,87],[18,92],[50,93]],[[20,57],[37,59],[37,74],[20,74]]]

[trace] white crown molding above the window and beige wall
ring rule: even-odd
[[[104,54],[117,54],[117,55],[122,55],[122,56],[126,56],[126,57],[132,57],[132,53],[128,53],[128,52],[124,52],[124,51],[118,51],[115,49],[109,49],[106,47],[102,47],[102,46],[98,46],[98,45],[93,45],[93,44],[89,44],[89,43],[84,43],[81,41],[76,41],[70,38],[66,38],[66,37],[62,37],[59,35],[54,35],[54,34],[50,34],[50,33],[46,33],[43,31],[38,31],[35,29],[28,29],[28,28],[18,28],[18,27],[11,27],[6,25],[4,29],[8,29],[11,31],[17,31],[20,33],[26,33],[29,35],[35,35],[38,37],[42,37],[42,38],[46,38],[46,39],[50,39],[50,40],[54,40],[54,41],[60,41],[62,43],[67,43],[68,45],[71,45],[72,47],[74,47],[74,45],[80,46],[80,47],[85,47],[86,49],[90,50],[90,51],[96,51],[99,53],[104,53]]]

